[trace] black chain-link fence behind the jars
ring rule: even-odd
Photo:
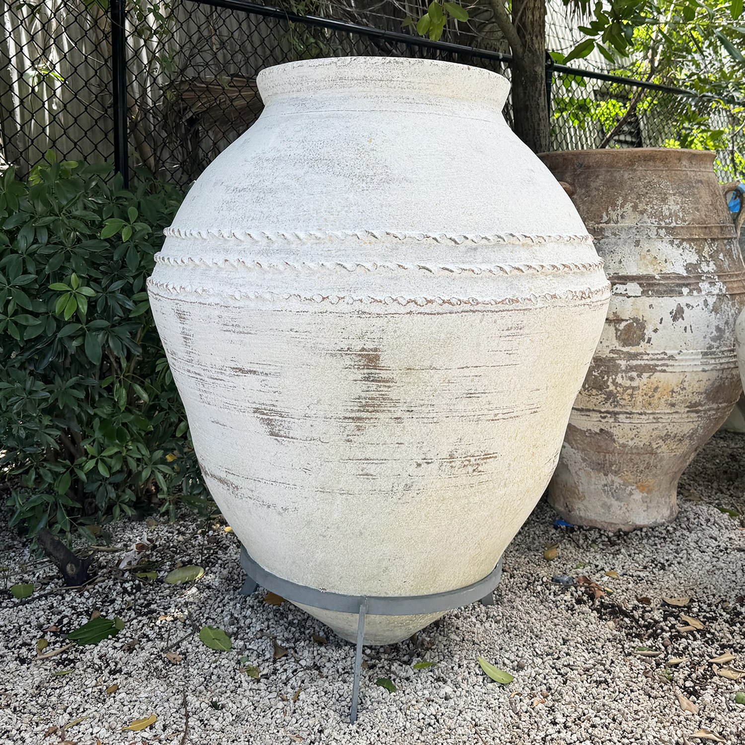
[[[126,147],[130,168],[186,186],[256,121],[256,75],[279,63],[422,57],[510,76],[508,54],[312,16],[332,9],[321,0],[295,3],[302,16],[245,0],[123,2],[0,0],[0,154],[21,174],[50,148],[96,161]],[[112,34],[112,17],[124,17],[124,34]],[[554,149],[708,148],[720,180],[744,176],[744,104],[558,65],[549,75]],[[504,114],[511,124],[509,101]]]

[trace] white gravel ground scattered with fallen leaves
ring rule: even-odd
[[[0,744],[717,741],[700,739],[700,730],[745,744],[745,706],[735,703],[745,678],[720,676],[726,665],[708,662],[731,652],[738,659],[730,667],[745,668],[745,528],[717,509],[745,511],[744,463],[745,435],[718,434],[682,478],[676,522],[630,535],[554,528],[551,508],[539,504],[507,550],[495,606],[449,612],[416,644],[366,647],[355,725],[354,647],[290,603],[264,603],[263,590],[238,595],[238,542],[219,520],[113,524],[112,545],[131,548],[143,535],[155,542],[145,558],[160,562],[159,578],[137,580],[115,568],[121,552],[97,552],[103,581],[82,592],[50,592],[60,586],[54,567],[5,530],[7,586],[34,582],[36,590],[22,601],[0,590]],[[558,557],[549,562],[544,550],[554,542]],[[163,583],[177,562],[206,574],[188,586]],[[555,575],[585,575],[612,594],[595,603],[588,589],[552,583]],[[662,600],[682,596],[691,597],[685,608]],[[37,659],[39,638],[49,642],[45,652],[63,647],[94,611],[126,627],[95,646]],[[679,632],[681,613],[705,628]],[[212,651],[194,635],[174,647],[183,659],[169,662],[164,651],[193,624],[222,628],[232,650]],[[278,660],[273,637],[288,650]],[[638,647],[660,654],[639,655]],[[480,655],[514,681],[491,682]],[[260,669],[258,681],[241,672],[242,657]],[[689,662],[667,667],[673,658]],[[414,670],[422,659],[437,665]],[[381,677],[397,691],[375,685]],[[683,711],[676,694],[697,713]],[[121,731],[150,714],[157,720],[142,732]]]

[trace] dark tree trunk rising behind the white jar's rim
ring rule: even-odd
[[[545,0],[513,0],[513,24],[523,53],[515,54],[512,101],[515,133],[534,153],[551,150],[546,101]]]

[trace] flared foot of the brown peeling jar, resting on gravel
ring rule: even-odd
[[[559,516],[573,525],[602,530],[635,530],[672,522],[678,514],[678,478],[652,479],[650,472],[625,475],[572,468],[562,460],[548,487],[548,501]]]

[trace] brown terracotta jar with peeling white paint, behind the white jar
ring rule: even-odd
[[[545,153],[573,190],[613,286],[549,501],[568,521],[630,530],[677,513],[685,466],[741,392],[743,261],[714,153]]]

